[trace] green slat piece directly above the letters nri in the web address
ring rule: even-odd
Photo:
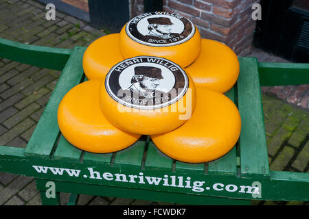
[[[146,141],[138,140],[128,148],[118,151],[115,155],[114,166],[132,165],[141,168]]]

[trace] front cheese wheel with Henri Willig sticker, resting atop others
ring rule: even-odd
[[[139,56],[115,65],[102,81],[102,112],[130,133],[158,134],[176,129],[196,104],[191,77],[170,60]]]

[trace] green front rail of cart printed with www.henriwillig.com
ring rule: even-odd
[[[98,188],[97,191],[102,190],[100,187],[104,188],[108,185],[111,189],[130,188],[139,193],[143,190],[160,191],[168,192],[171,196],[186,194],[197,195],[200,198],[214,196],[245,200],[309,201],[309,173],[307,172],[271,170],[269,178],[201,175],[195,172],[185,174],[177,170],[176,172],[137,170],[133,168],[134,165],[108,166],[90,161],[82,164],[57,159],[40,159],[27,157],[23,151],[24,149],[20,148],[8,149],[8,146],[0,146],[0,171],[47,181],[63,183],[70,181],[79,186],[94,186]],[[132,178],[129,177],[130,175],[137,177]],[[155,178],[159,179],[158,177],[161,177],[161,181],[155,183]],[[143,181],[140,178],[143,178]],[[190,180],[189,184],[187,180]],[[165,183],[167,185],[164,185]],[[253,188],[256,186],[259,187],[260,196],[253,196],[255,191]],[[67,192],[78,193],[78,190],[68,188]],[[132,198],[137,196],[133,194]]]

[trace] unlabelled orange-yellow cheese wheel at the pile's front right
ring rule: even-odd
[[[152,135],[157,148],[181,162],[209,162],[228,153],[240,136],[236,105],[224,94],[196,87],[196,109],[178,129]]]

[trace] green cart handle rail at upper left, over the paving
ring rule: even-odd
[[[62,70],[71,49],[41,47],[0,38],[0,57],[41,68]]]

